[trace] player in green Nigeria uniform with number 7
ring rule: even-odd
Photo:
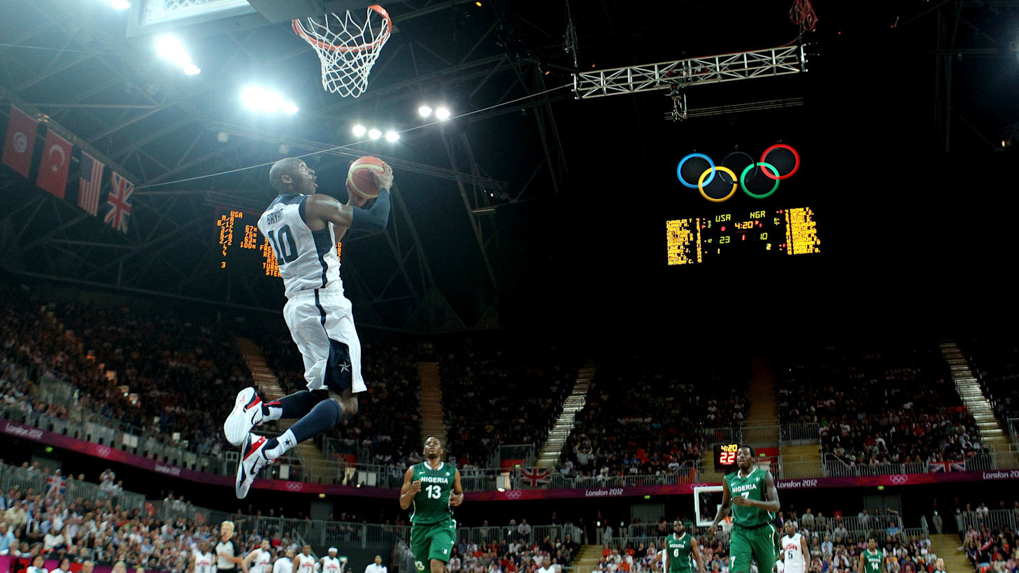
[[[732,573],[750,573],[751,558],[758,571],[774,567],[774,514],[779,511],[779,491],[771,472],[754,467],[754,449],[741,447],[736,453],[737,470],[727,474],[721,482],[721,506],[709,535],[718,530],[718,522],[733,511],[730,532],[730,563]]]

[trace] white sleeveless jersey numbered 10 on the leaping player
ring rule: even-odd
[[[336,254],[336,233],[332,223],[322,230],[312,230],[305,222],[305,201],[308,195],[280,195],[269,204],[258,220],[258,228],[269,241],[283,292],[287,297],[301,291],[339,289],[339,256]]]

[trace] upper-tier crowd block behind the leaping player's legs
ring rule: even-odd
[[[266,333],[261,347],[284,392],[306,389],[304,361],[288,331]],[[403,466],[420,462],[424,444],[421,383],[413,343],[362,336],[361,369],[368,389],[358,395],[358,415],[343,418],[325,435],[356,440],[359,463]]]

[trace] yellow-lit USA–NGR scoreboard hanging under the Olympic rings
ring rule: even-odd
[[[716,213],[665,221],[665,264],[699,265],[820,253],[810,207]]]

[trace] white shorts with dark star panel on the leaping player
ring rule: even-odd
[[[361,341],[351,309],[351,301],[340,289],[301,291],[283,306],[283,319],[305,359],[308,389],[328,388],[340,394],[344,388],[337,387],[335,380],[346,378],[346,368],[351,370],[351,389],[367,389],[361,375]],[[337,353],[335,343],[346,345],[348,357],[339,356],[341,347]]]

